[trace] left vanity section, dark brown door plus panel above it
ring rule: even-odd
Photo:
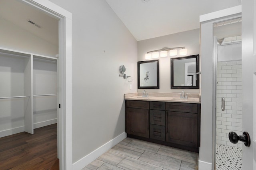
[[[126,100],[125,131],[149,138],[149,102]]]

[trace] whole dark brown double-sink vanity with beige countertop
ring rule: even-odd
[[[192,152],[200,147],[200,97],[188,94],[125,94],[125,131],[130,138]]]

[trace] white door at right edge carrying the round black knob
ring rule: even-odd
[[[253,37],[255,28],[255,11],[254,3],[255,0],[242,1],[242,85],[243,85],[243,102],[242,102],[242,130],[249,133],[251,138],[251,146],[246,147],[242,145],[242,168],[244,170],[255,170],[255,127],[253,124],[256,123],[255,118],[255,56],[254,54],[254,43]],[[252,22],[253,21],[253,22]],[[254,39],[254,40],[253,40]],[[242,134],[239,134],[242,135]]]

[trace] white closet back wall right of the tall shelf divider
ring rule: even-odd
[[[33,94],[57,94],[57,63],[33,61]],[[57,122],[57,96],[34,96],[34,128]]]

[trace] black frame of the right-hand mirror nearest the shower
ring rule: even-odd
[[[199,88],[199,74],[196,74],[196,86],[174,86],[173,82],[173,62],[174,60],[182,60],[182,59],[189,59],[189,58],[196,58],[196,72],[199,72],[199,54],[197,55],[192,55],[192,56],[185,56],[185,57],[176,57],[176,58],[171,58],[171,89],[195,89]]]

